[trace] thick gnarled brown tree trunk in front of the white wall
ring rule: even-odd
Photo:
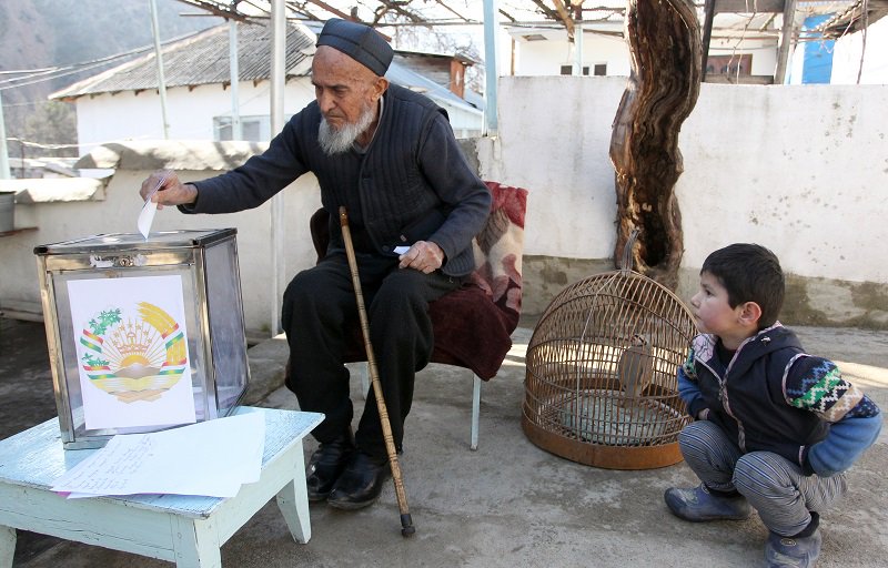
[[[684,252],[675,182],[684,170],[678,132],[700,88],[700,31],[693,0],[628,0],[632,73],[610,136],[616,170],[617,243],[634,229],[636,271],[675,290]]]

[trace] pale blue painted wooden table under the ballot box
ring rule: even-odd
[[[16,529],[159,558],[180,568],[219,568],[219,547],[265,504],[278,507],[297,542],[311,538],[302,438],[322,414],[241,407],[265,415],[259,481],[235,497],[135,495],[65,499],[53,481],[94,449],[64,450],[58,418],[0,440],[0,567],[12,566]]]

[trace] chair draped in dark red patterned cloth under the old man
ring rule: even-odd
[[[486,182],[493,197],[491,215],[473,240],[475,271],[460,290],[428,305],[435,346],[432,363],[455,365],[472,371],[471,448],[478,446],[482,381],[496,376],[508,349],[512,332],[518,325],[522,294],[522,252],[527,190]],[[330,242],[330,215],[317,210],[310,222],[317,261]],[[361,329],[349,341],[345,363],[366,361]],[[287,365],[289,366],[289,365]],[[367,373],[361,373],[364,393]]]

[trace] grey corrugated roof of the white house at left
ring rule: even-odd
[[[287,27],[287,70],[311,58],[315,38],[302,27]],[[238,26],[238,68],[241,81],[259,81],[271,75],[271,29],[262,24]],[[220,26],[192,38],[162,47],[167,88],[228,83],[229,28]],[[51,99],[77,99],[88,94],[143,91],[158,88],[154,53],[110,69],[57,91]]]

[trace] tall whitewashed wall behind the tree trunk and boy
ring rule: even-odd
[[[501,79],[500,135],[478,145],[481,172],[531,190],[527,313],[584,273],[613,267],[607,152],[624,87],[617,78]],[[877,119],[886,104],[884,85],[703,84],[679,136],[679,295],[689,297],[709,252],[758,242],[791,275],[785,320],[888,327],[888,123]]]

